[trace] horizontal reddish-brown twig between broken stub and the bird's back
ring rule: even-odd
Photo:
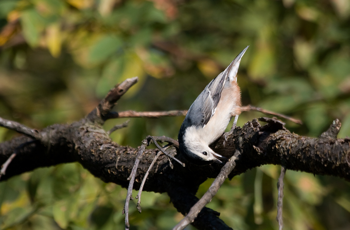
[[[187,114],[187,110],[171,110],[171,111],[122,111],[108,114],[109,118],[123,118],[123,117],[148,117],[148,118],[158,118],[162,116],[184,116]]]

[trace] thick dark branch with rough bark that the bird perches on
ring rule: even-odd
[[[129,184],[127,178],[134,165],[138,148],[114,143],[102,128],[105,119],[110,115],[109,109],[116,102],[115,96],[120,98],[126,90],[111,91],[112,93],[105,99],[107,106],[102,101],[94,111],[80,121],[72,124],[55,124],[39,131],[41,136],[45,136],[45,142],[40,140],[33,142],[30,137],[19,136],[0,143],[0,165],[14,152],[17,153],[0,181],[38,167],[79,162],[101,180],[127,187]],[[335,120],[330,129],[319,138],[291,133],[284,128],[283,123],[275,119],[261,120],[266,124],[262,126],[254,119],[242,128],[237,127],[228,138],[225,148],[224,137],[219,138],[211,146],[217,153],[227,158],[230,158],[239,147],[242,154],[236,160],[236,167],[229,178],[262,164],[280,164],[289,170],[350,179],[350,139],[336,139],[340,129],[338,120]],[[24,144],[27,142],[29,143]],[[172,151],[175,154],[176,149],[168,149],[168,152]],[[146,149],[140,160],[134,189],[140,187],[143,175],[156,154],[157,149]],[[214,163],[197,166],[187,162],[179,152],[175,157],[184,162],[186,167],[173,161],[172,169],[168,158],[161,155],[148,175],[144,190],[168,193],[178,212],[187,214],[192,205],[198,201],[194,195],[199,185],[208,178],[215,178],[222,165]],[[218,215],[217,212],[205,208],[192,225],[200,230],[230,229]]]

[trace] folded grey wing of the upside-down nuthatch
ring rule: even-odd
[[[226,81],[227,74],[224,71],[214,78],[194,100],[186,115],[192,125],[204,127],[209,122],[215,113]]]

